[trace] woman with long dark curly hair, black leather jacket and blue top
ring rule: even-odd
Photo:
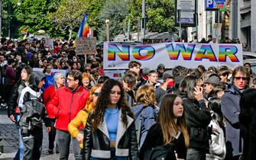
[[[83,144],[86,160],[138,160],[134,114],[120,82],[109,79],[103,84]]]

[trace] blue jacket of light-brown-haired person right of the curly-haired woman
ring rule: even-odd
[[[136,133],[139,136],[139,147],[143,145],[144,139],[147,136],[147,131],[151,126],[156,123],[158,109],[154,109],[152,106],[144,106],[144,104],[138,104],[134,107],[131,107],[131,110],[135,116],[135,128]],[[141,126],[141,129],[139,127]],[[141,130],[141,133],[138,131]]]

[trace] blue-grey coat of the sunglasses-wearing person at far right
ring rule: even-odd
[[[241,91],[235,85],[228,85],[225,94],[222,96],[222,114],[225,117],[225,134],[226,134],[226,148],[227,158],[239,155],[239,114],[240,114],[240,98]],[[241,142],[241,152],[242,152]]]

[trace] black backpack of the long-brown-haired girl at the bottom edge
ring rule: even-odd
[[[157,146],[144,152],[143,160],[176,160],[171,146]]]

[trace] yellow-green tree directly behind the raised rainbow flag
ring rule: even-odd
[[[97,16],[102,8],[102,2],[103,0],[62,0],[57,11],[48,13],[47,17],[60,30],[69,30],[69,38],[71,38],[76,36],[85,13],[88,14],[89,27],[96,28],[99,23]]]

